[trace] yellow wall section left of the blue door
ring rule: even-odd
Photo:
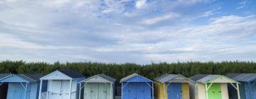
[[[165,84],[165,89],[167,89],[167,84]],[[157,99],[164,99],[164,83],[161,83],[161,82],[155,82],[154,83],[154,86],[155,86],[155,96]],[[168,96],[167,96],[167,91],[165,91],[165,95],[166,95],[166,98],[165,99],[168,99]]]

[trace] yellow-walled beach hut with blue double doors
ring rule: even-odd
[[[195,83],[179,74],[165,74],[154,80],[157,99],[190,99],[189,83]]]

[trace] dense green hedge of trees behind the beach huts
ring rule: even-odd
[[[106,64],[98,62],[23,62],[2,61],[0,73],[12,74],[49,74],[58,69],[73,69],[80,71],[85,76],[107,74],[119,81],[129,74],[137,73],[147,78],[154,79],[162,74],[227,74],[227,73],[256,73],[255,62],[176,62],[159,64]]]

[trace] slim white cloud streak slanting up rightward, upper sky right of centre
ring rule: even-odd
[[[146,24],[146,25],[151,25],[154,23],[159,23],[161,21],[166,21],[166,20],[172,20],[174,18],[178,18],[178,16],[180,16],[178,13],[169,13],[166,14],[164,16],[158,16],[155,18],[148,18],[142,21],[142,23]]]

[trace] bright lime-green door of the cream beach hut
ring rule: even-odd
[[[210,86],[210,83],[208,83]],[[213,83],[212,86],[208,89],[208,99],[221,99],[221,89],[220,83]]]

